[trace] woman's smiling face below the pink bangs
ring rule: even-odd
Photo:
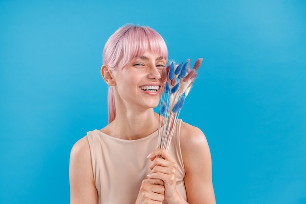
[[[119,106],[138,110],[156,107],[163,91],[161,73],[166,63],[163,57],[147,51],[113,71],[113,90]]]

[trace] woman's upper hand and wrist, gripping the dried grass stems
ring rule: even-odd
[[[161,158],[157,157],[160,156]],[[148,178],[160,179],[164,181],[165,200],[170,203],[177,202],[176,191],[176,163],[165,149],[156,149],[148,156],[152,163],[150,164],[151,173]]]

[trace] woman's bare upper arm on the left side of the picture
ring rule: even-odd
[[[70,204],[98,204],[87,136],[72,147],[69,163]]]

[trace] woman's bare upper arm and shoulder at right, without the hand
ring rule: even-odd
[[[211,155],[202,131],[181,125],[180,145],[185,166],[185,187],[189,204],[216,204],[212,183]]]

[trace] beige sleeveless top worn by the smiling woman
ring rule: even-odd
[[[176,189],[186,200],[180,124],[181,120],[177,121],[168,152],[177,165]],[[87,137],[99,204],[135,204],[141,182],[150,173],[147,156],[157,148],[158,131],[136,140],[119,139],[99,130],[88,132]]]

